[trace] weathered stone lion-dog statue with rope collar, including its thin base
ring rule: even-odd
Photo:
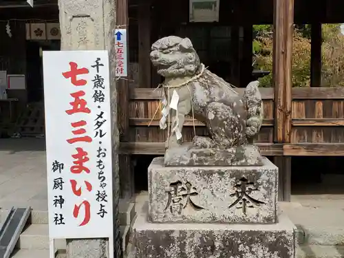
[[[160,127],[171,118],[165,165],[257,165],[253,139],[261,128],[263,109],[259,83],[249,83],[244,96],[200,62],[189,39],[168,36],[153,43],[151,62],[164,77],[164,111]],[[204,122],[210,138],[195,136],[182,144],[186,115]],[[169,128],[170,129],[170,128]]]

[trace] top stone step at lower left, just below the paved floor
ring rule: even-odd
[[[135,204],[120,200],[118,204],[120,225],[129,226],[135,217]],[[32,224],[48,224],[48,212],[47,211],[32,211],[31,212]]]

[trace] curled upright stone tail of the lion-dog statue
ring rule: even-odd
[[[242,97],[247,110],[246,138],[248,142],[252,142],[253,138],[259,133],[263,122],[263,102],[258,87],[259,81],[252,81],[247,85]]]

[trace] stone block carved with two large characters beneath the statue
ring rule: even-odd
[[[164,158],[155,158],[148,169],[149,221],[277,222],[278,169],[265,157],[262,162],[263,166],[165,167]]]

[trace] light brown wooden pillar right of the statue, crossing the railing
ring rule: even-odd
[[[292,108],[293,0],[274,0],[273,87],[275,87],[275,136],[290,142]],[[279,200],[290,202],[291,158],[275,157],[279,166]]]

